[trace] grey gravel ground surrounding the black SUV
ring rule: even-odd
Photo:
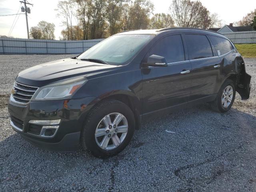
[[[237,94],[226,114],[203,104],[145,122],[123,152],[102,160],[38,149],[9,125],[17,73],[66,57],[0,55],[0,191],[256,191],[256,59],[245,59],[249,100]]]

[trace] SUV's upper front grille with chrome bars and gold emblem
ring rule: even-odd
[[[14,91],[12,91],[12,96],[14,100],[21,104],[27,104],[38,89],[38,87],[32,87],[18,82],[14,82],[13,89]]]

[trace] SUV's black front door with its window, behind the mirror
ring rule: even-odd
[[[181,35],[157,41],[146,57],[153,54],[165,57],[168,66],[142,68],[144,114],[186,103],[190,96],[191,65]]]

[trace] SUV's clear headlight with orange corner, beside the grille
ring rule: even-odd
[[[31,100],[69,99],[87,81],[82,77],[40,87]]]

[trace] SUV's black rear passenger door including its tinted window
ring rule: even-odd
[[[210,97],[216,93],[216,81],[220,76],[220,58],[206,35],[184,36],[193,75],[190,100]]]

